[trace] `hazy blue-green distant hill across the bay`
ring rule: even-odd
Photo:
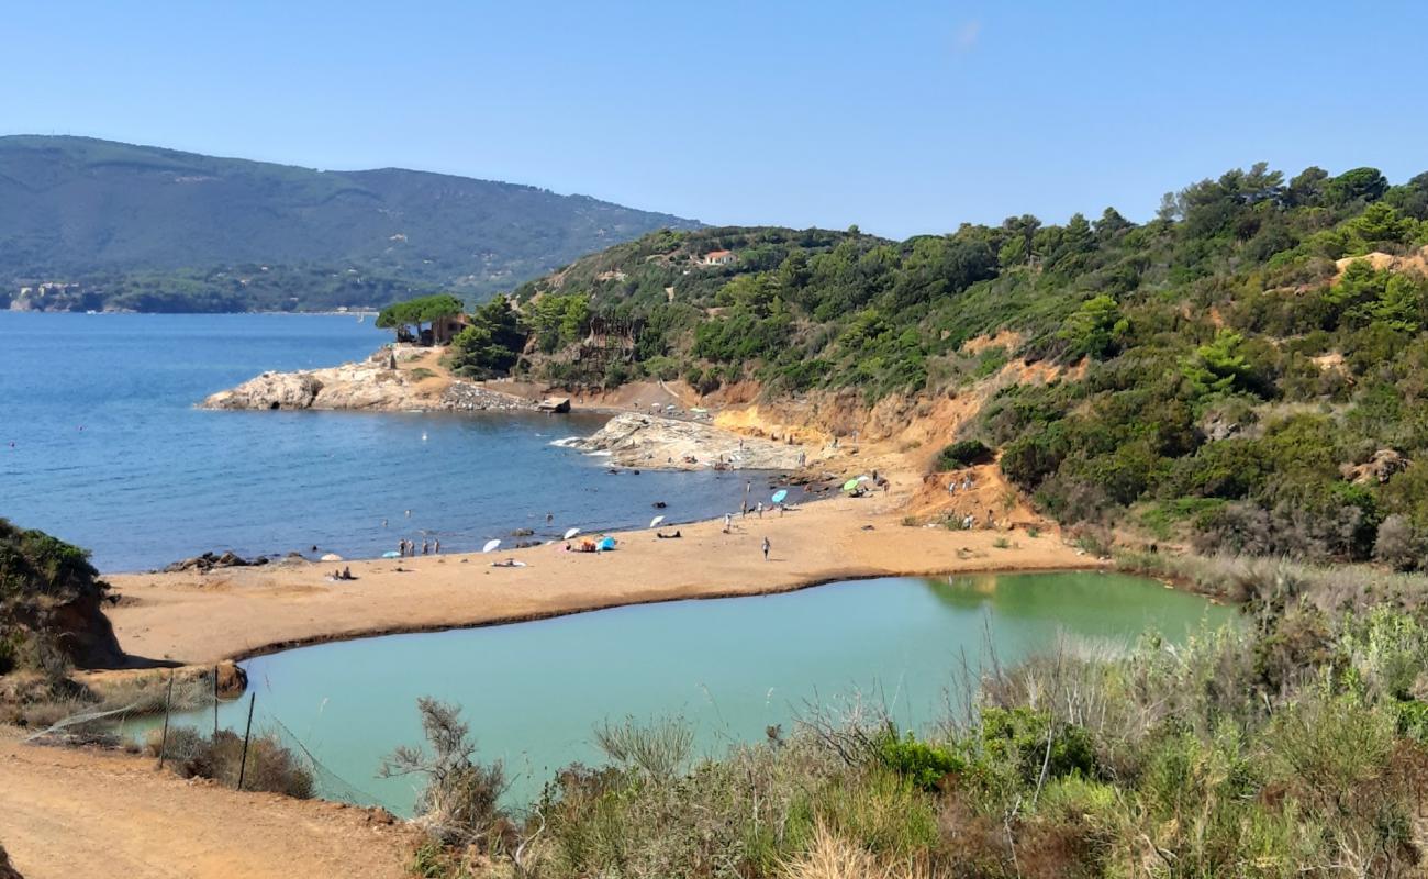
[[[317,172],[89,137],[0,137],[7,287],[180,269],[193,280],[253,264],[370,274],[478,297],[654,229],[695,226],[448,174]]]

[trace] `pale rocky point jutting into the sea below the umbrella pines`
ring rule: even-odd
[[[268,372],[220,390],[201,409],[531,410],[530,400],[431,372],[394,369],[386,352],[361,363]]]

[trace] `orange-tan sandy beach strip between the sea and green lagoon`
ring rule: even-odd
[[[357,577],[331,582],[334,563],[286,563],[200,573],[107,577],[110,610],[130,655],[186,663],[240,659],[288,646],[394,632],[517,622],[620,605],[787,592],[830,580],[974,570],[1094,567],[1054,530],[912,527],[901,523],[910,485],[790,510],[614,533],[608,553],[563,543],[491,555],[346,562]],[[761,543],[768,537],[765,562]],[[998,542],[1008,546],[998,547]],[[524,567],[491,567],[514,559]],[[401,570],[398,570],[401,569]]]

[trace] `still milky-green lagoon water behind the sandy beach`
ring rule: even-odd
[[[683,716],[700,753],[790,729],[807,705],[887,705],[911,729],[942,715],[964,662],[1054,649],[1061,633],[1130,645],[1220,626],[1230,607],[1114,573],[888,577],[795,593],[617,607],[551,620],[320,645],[243,663],[254,727],[296,736],[330,772],[394,812],[410,780],[376,778],[383,755],[421,740],[418,696],[458,702],[480,759],[501,759],[510,796],[555,769],[600,760],[605,719]],[[247,699],[220,722],[241,732]],[[191,719],[211,725],[211,713]],[[341,795],[343,790],[328,790]],[[363,798],[358,798],[363,799]]]

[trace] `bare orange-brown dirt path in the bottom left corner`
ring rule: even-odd
[[[406,878],[364,809],[190,783],[153,762],[0,738],[0,840],[26,879]]]

